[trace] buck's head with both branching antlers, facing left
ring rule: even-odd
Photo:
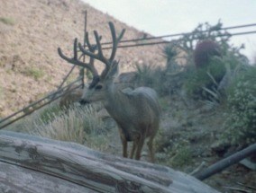
[[[98,35],[97,31],[94,31],[96,45],[92,45],[88,38],[88,32],[86,33],[86,43],[88,50],[83,48],[83,46],[78,43],[78,39],[74,40],[74,56],[72,58],[63,55],[60,48],[58,48],[59,56],[68,61],[71,64],[82,66],[87,68],[93,75],[93,81],[89,84],[87,92],[84,92],[81,104],[92,101],[104,101],[105,100],[105,90],[113,83],[115,75],[118,73],[118,62],[114,60],[115,53],[119,41],[123,38],[124,29],[117,37],[114,29],[113,22],[109,22],[109,28],[112,36],[112,52],[109,58],[106,58],[103,54],[103,48],[101,45],[101,37]],[[90,57],[89,63],[82,62],[78,59],[78,48],[84,55]],[[97,53],[95,53],[97,50]],[[105,64],[105,69],[102,71],[101,75],[98,75],[96,67],[94,66],[94,60],[97,59]]]

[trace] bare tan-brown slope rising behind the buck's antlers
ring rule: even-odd
[[[103,42],[111,40],[110,21],[116,31],[126,29],[123,39],[144,35],[79,0],[0,0],[0,117],[57,88],[71,67],[57,48],[68,54],[73,39],[83,39],[85,11],[87,31],[98,31]],[[162,46],[120,48],[116,58],[121,71],[130,71],[136,63],[163,64],[161,50]]]

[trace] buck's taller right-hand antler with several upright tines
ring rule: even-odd
[[[109,28],[111,31],[111,35],[112,35],[112,53],[111,56],[109,58],[104,57],[103,55],[103,51],[102,51],[102,46],[100,43],[100,37],[98,36],[97,31],[94,31],[95,34],[95,39],[96,39],[96,48],[98,49],[97,54],[95,54],[94,52],[91,51],[90,48],[90,43],[89,43],[89,39],[88,39],[88,33],[86,34],[86,39],[87,39],[87,45],[89,48],[89,51],[86,50],[85,48],[82,47],[82,45],[80,43],[78,43],[78,47],[80,48],[80,50],[87,56],[95,58],[101,62],[103,62],[105,64],[105,69],[101,74],[101,77],[104,78],[105,75],[107,74],[107,72],[110,69],[110,66],[112,66],[113,61],[114,61],[114,57],[115,57],[115,53],[116,53],[116,49],[117,49],[117,45],[119,43],[119,41],[123,38],[123,34],[125,32],[125,30],[123,29],[123,31],[120,33],[120,35],[118,37],[116,37],[116,33],[115,33],[115,29],[114,29],[114,24],[113,22],[109,22]]]

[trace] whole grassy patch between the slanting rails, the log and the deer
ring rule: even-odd
[[[99,118],[95,106],[73,106],[63,111],[53,103],[23,118],[9,129],[34,136],[85,144],[91,136],[103,131],[104,123]]]

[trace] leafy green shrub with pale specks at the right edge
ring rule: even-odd
[[[247,66],[227,90],[228,113],[224,136],[233,145],[256,142],[256,67]]]

